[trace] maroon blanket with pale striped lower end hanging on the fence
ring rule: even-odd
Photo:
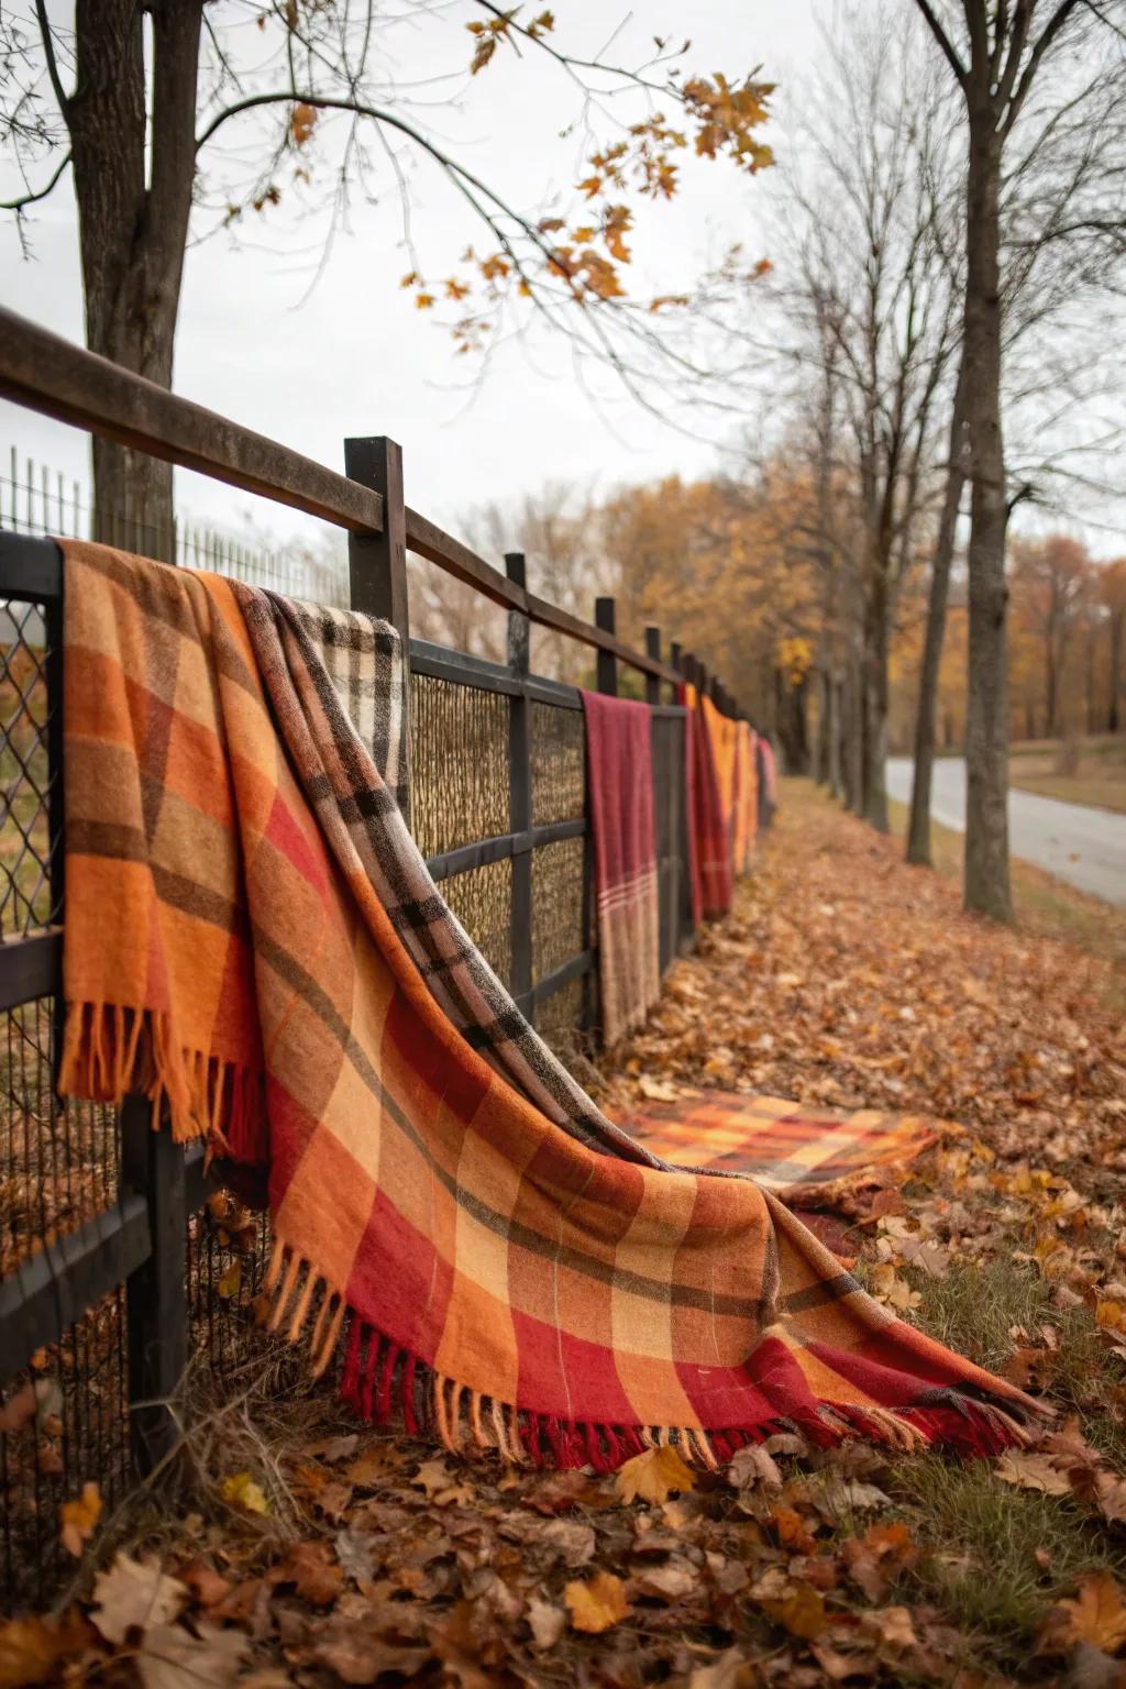
[[[640,1027],[660,997],[653,752],[647,704],[582,692],[594,841],[598,986],[604,1042]]]

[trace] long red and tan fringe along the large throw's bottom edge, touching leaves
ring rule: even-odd
[[[717,1471],[739,1449],[778,1431],[795,1429],[820,1447],[863,1437],[907,1453],[940,1446],[957,1454],[999,1454],[1031,1441],[1010,1412],[942,1390],[935,1390],[934,1405],[925,1407],[893,1410],[874,1404],[819,1402],[810,1414],[771,1415],[753,1426],[717,1431],[533,1414],[427,1366],[409,1348],[348,1309],[341,1292],[280,1240],[273,1245],[265,1289],[273,1299],[268,1329],[285,1329],[290,1341],[300,1338],[316,1309],[309,1339],[314,1378],[333,1361],[348,1316],[339,1388],[341,1398],[360,1419],[376,1426],[402,1420],[409,1436],[429,1432],[457,1456],[496,1449],[513,1466],[593,1466],[596,1473],[608,1473],[645,1449],[675,1447],[689,1466]]]

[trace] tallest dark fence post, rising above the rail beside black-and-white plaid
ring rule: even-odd
[[[407,507],[403,454],[387,434],[344,441],[344,475],[383,498],[383,532],[348,535],[351,608],[397,628],[403,654],[403,721],[398,779],[410,826],[410,611],[407,595]]]

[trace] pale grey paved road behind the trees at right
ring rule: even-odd
[[[888,796],[910,804],[910,757],[888,760]],[[961,757],[935,762],[930,812],[944,826],[966,831],[966,763]],[[1080,892],[1126,904],[1126,816],[1010,790],[1010,850]]]

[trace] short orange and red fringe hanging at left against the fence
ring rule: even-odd
[[[164,1013],[122,1003],[68,1003],[59,1089],[98,1103],[147,1096],[154,1128],[167,1111],[177,1143],[206,1138],[231,1160],[268,1160],[263,1074],[186,1049]]]

